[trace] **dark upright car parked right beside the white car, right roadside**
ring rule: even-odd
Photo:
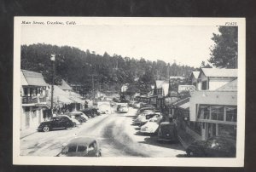
[[[163,122],[160,123],[160,128],[158,131],[159,141],[172,141],[177,142],[177,126],[173,122]]]

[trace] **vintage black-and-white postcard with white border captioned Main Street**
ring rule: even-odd
[[[245,22],[15,17],[13,163],[242,167]]]

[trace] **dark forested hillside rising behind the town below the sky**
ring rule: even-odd
[[[57,54],[55,83],[60,84],[63,78],[68,83],[84,85],[87,91],[92,88],[92,75],[94,88],[119,89],[121,84],[134,83],[137,80],[142,83],[154,83],[154,79],[168,75],[189,77],[189,73],[194,69],[173,63],[168,70],[168,64],[162,60],[136,60],[118,54],[109,55],[107,52],[100,55],[88,49],[83,51],[69,46],[59,47],[41,43],[21,46],[21,69],[41,72],[46,82],[51,83],[50,54]]]

